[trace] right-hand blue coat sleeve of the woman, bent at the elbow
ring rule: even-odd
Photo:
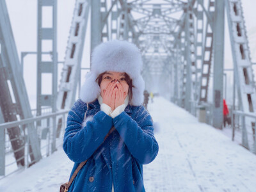
[[[138,163],[148,164],[156,158],[159,148],[152,118],[142,105],[136,107],[133,113],[134,119],[123,111],[113,118],[113,123],[132,156]]]

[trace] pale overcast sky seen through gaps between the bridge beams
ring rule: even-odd
[[[244,18],[246,20],[246,29],[248,31],[249,44],[251,48],[251,56],[256,62],[256,21],[255,21],[255,7],[256,0],[243,0]],[[20,52],[36,51],[36,0],[6,0],[8,6],[8,13],[12,23],[13,35],[17,45],[17,51],[20,57]],[[58,56],[59,61],[63,61],[65,57],[65,50],[67,46],[68,33],[70,29],[72,13],[74,11],[75,0],[61,0],[58,1]],[[47,21],[49,15],[44,19]],[[44,21],[43,21],[44,22]],[[90,22],[89,22],[90,24]],[[226,22],[227,26],[227,22]],[[89,25],[90,27],[90,25]],[[88,34],[88,33],[87,33]],[[87,35],[83,54],[83,67],[89,67],[89,50],[90,39]],[[45,50],[47,51],[47,50]],[[228,36],[228,28],[225,28],[225,68],[232,67],[232,54],[230,51],[230,42]],[[61,64],[59,74],[61,72]],[[256,71],[255,71],[256,73]],[[86,74],[84,71],[82,77]],[[47,78],[44,77],[44,78]],[[36,55],[26,56],[24,60],[24,80],[31,102],[31,108],[35,108],[36,95]],[[44,79],[43,79],[44,81]],[[45,80],[46,81],[46,80]],[[58,80],[58,83],[60,79]],[[51,94],[49,86],[42,87],[42,93]]]

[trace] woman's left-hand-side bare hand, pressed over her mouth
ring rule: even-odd
[[[108,86],[106,87],[106,90],[103,90],[103,95],[102,95],[102,102],[104,104],[107,104],[109,107],[111,107],[112,111],[114,111],[115,109],[115,97],[116,97],[115,85],[116,85],[115,81],[109,83]]]

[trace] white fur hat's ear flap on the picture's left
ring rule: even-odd
[[[88,72],[85,76],[85,81],[81,86],[79,97],[83,102],[93,102],[100,95],[100,86],[95,81],[97,75],[93,72]]]

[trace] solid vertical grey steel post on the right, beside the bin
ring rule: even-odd
[[[214,15],[214,73],[213,73],[213,116],[212,125],[222,129],[223,124],[223,54],[225,2],[215,1]]]

